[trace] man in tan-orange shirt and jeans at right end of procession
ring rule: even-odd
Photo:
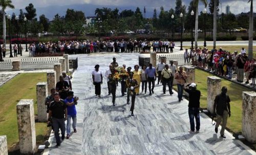
[[[182,99],[182,95],[183,95],[183,87],[184,84],[186,83],[186,79],[187,79],[187,73],[185,71],[183,71],[183,67],[179,67],[179,71],[177,71],[174,75],[174,79],[176,79],[177,82],[177,87],[178,87],[178,98],[179,98],[179,102]]]

